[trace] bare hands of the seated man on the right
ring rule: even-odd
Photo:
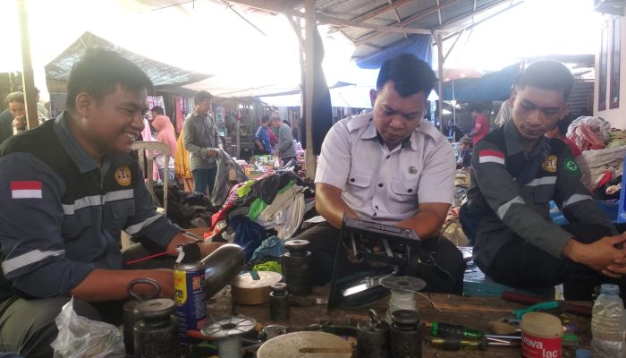
[[[605,236],[595,243],[579,243],[570,239],[563,247],[563,256],[602,272],[608,277],[622,277],[626,274],[626,249],[617,249],[626,242],[626,233]]]

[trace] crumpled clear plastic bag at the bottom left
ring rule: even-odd
[[[59,335],[50,344],[55,358],[123,358],[122,332],[108,323],[79,316],[73,303],[72,297],[55,319]]]

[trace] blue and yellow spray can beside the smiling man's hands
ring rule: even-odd
[[[207,323],[207,294],[204,291],[205,269],[196,243],[185,243],[173,267],[173,289],[176,316],[179,321],[181,345],[188,345],[187,331],[200,329]]]

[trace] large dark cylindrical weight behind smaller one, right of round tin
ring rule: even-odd
[[[290,240],[284,243],[283,255],[284,279],[289,286],[289,291],[295,295],[311,294],[311,253],[307,251],[307,240]]]

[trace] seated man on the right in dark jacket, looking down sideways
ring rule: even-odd
[[[514,287],[563,283],[566,299],[588,300],[601,283],[623,283],[626,234],[616,235],[580,183],[567,144],[544,136],[563,118],[572,84],[561,63],[529,64],[512,120],[474,148],[468,206],[479,218],[474,260],[486,275]],[[550,200],[570,226],[553,224]]]

